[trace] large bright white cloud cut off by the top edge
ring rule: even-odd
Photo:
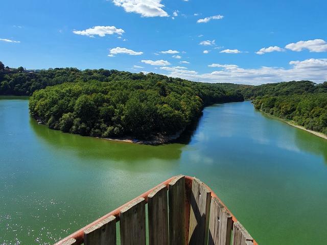
[[[128,13],[141,14],[142,17],[168,17],[168,13],[162,8],[161,0],[113,0],[114,5],[123,7]]]

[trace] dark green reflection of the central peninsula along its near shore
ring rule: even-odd
[[[148,161],[151,158],[178,160],[184,146],[179,143],[158,146],[134,144],[63,133],[39,125],[33,118],[30,119],[30,126],[38,138],[51,145],[52,151],[72,151],[79,157],[89,160],[111,159],[125,162]]]

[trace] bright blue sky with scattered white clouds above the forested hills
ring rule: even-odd
[[[322,0],[10,0],[0,10],[0,60],[201,82],[323,82],[326,9]]]

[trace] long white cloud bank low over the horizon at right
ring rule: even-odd
[[[259,85],[292,80],[311,80],[317,83],[327,81],[327,59],[307,59],[289,62],[289,68],[260,67],[241,68],[233,64],[212,64],[217,70],[198,74],[181,72],[179,69],[169,71],[168,76],[211,83],[238,83]]]

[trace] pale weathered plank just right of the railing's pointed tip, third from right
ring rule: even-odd
[[[197,178],[192,182],[189,245],[207,242],[211,191]]]

